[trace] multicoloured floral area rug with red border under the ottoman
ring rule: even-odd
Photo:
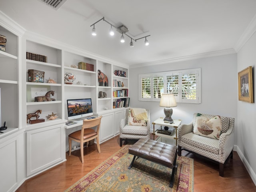
[[[65,192],[193,192],[194,160],[177,156],[174,186],[169,187],[172,169],[138,158],[124,146]]]

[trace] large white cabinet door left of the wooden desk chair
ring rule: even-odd
[[[27,176],[65,159],[64,124],[28,131],[26,139]]]

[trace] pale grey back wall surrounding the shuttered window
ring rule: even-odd
[[[192,121],[195,112],[228,116],[235,118],[236,130],[238,89],[236,54],[130,68],[130,106],[150,109],[151,122],[159,117],[164,117],[164,108],[159,106],[159,102],[145,102],[138,100],[138,74],[190,68],[201,68],[201,104],[178,103],[178,106],[173,108],[172,118],[181,119],[182,123],[188,124]],[[153,129],[152,125],[151,129]]]

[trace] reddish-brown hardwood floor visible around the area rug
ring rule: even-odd
[[[100,145],[100,154],[96,144],[84,148],[84,164],[80,161],[80,150],[72,152],[71,156],[66,153],[66,162],[26,180],[16,192],[63,192],[119,149],[119,136],[116,136]],[[226,164],[224,177],[219,176],[218,164],[186,151],[182,151],[182,156],[194,158],[194,192],[256,191],[237,152]]]

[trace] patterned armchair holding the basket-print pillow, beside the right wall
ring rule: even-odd
[[[219,123],[220,126],[216,125],[215,127],[216,131],[220,131],[221,127],[220,133],[211,137],[210,132],[215,130],[202,124],[200,126],[202,118],[208,118],[210,126]],[[224,176],[224,165],[229,158],[233,158],[233,147],[234,118],[195,113],[190,124],[181,124],[178,127],[178,156],[181,156],[181,150],[186,150],[217,162],[219,175],[222,177]]]

